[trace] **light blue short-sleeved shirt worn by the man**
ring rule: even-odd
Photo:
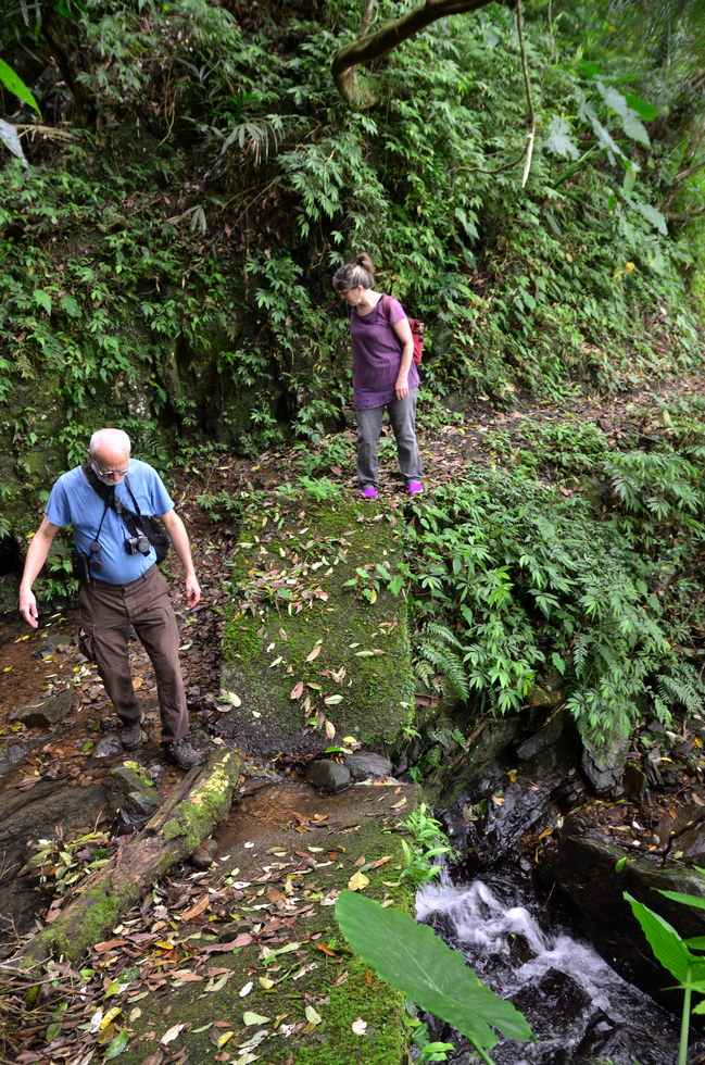
[[[174,510],[174,502],[166,491],[162,479],[155,469],[139,459],[129,460],[129,487],[137,500],[142,514],[156,514],[159,517]],[[135,510],[124,479],[115,488],[115,498],[128,510]],[[45,508],[45,514],[52,525],[71,525],[74,543],[78,551],[85,551],[90,556],[90,544],[96,539],[105,504],[98,492],[86,480],[80,466],[75,466],[63,474],[54,487]],[[128,554],[125,540],[129,539],[129,529],[117,516],[112,506],[108,508],[99,542],[101,547],[100,561],[102,569],[91,568],[96,580],[106,580],[110,585],[126,585],[141,577],[156,562],[154,548],[149,554]]]

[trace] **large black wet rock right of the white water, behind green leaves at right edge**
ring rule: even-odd
[[[617,873],[615,866],[624,857],[625,851],[619,847],[563,836],[553,870],[558,893],[569,900],[571,916],[577,917],[605,961],[625,979],[677,1012],[682,1006],[682,995],[664,990],[667,974],[654,958],[624,892],[654,910],[684,938],[705,936],[705,911],[671,902],[660,894],[662,890],[681,891],[705,899],[705,877],[682,869],[657,868],[635,856],[627,857]],[[542,872],[542,877],[546,872]]]

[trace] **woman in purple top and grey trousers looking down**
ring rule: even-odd
[[[357,476],[363,496],[377,499],[377,446],[387,408],[406,490],[417,496],[424,489],[416,442],[418,371],[412,359],[414,340],[401,303],[375,292],[374,284],[375,267],[364,253],[341,266],[332,279],[350,313]]]

